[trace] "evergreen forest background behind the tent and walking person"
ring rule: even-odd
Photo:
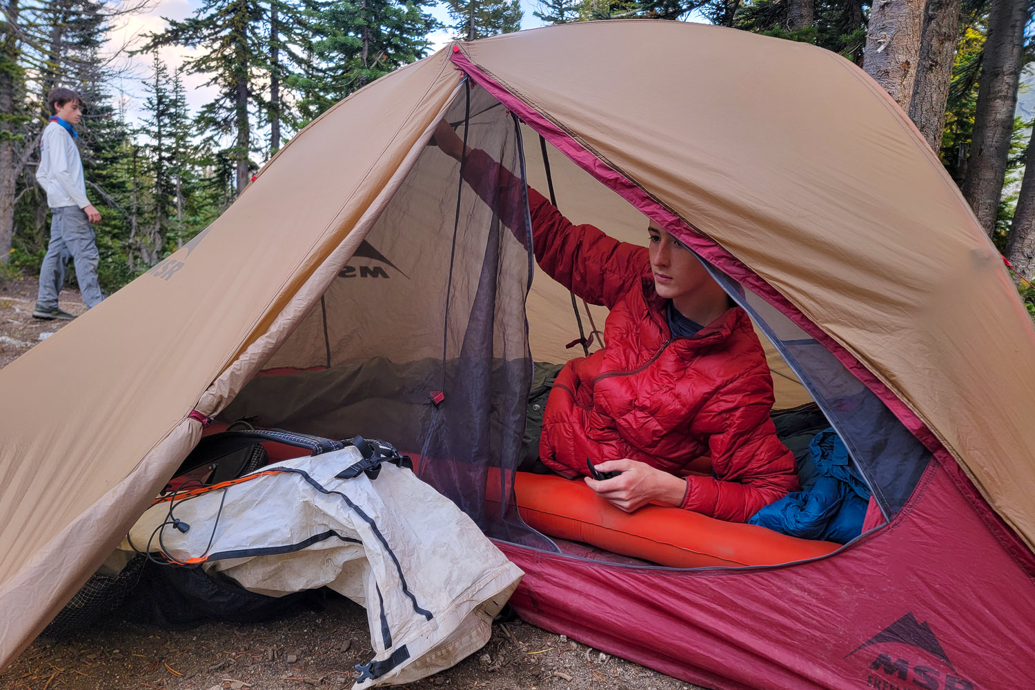
[[[632,18],[710,22],[860,65],[938,152],[1015,276],[1035,276],[1033,0],[539,0],[535,19],[520,0],[193,0],[193,16],[125,38],[158,1],[0,5],[0,277],[34,276],[47,249],[34,174],[57,86],[84,97],[79,142],[111,293],[218,217],[308,122],[443,36]],[[138,81],[142,101],[126,95]],[[1035,290],[1018,290],[1035,317]]]

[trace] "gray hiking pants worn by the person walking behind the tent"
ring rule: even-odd
[[[64,258],[71,254],[76,266],[76,280],[83,294],[86,308],[96,306],[105,296],[97,284],[97,243],[93,228],[86,212],[78,206],[62,206],[51,209],[51,243],[47,256],[39,267],[39,297],[36,302],[42,307],[56,307],[58,293],[64,281]],[[58,280],[61,279],[61,282]]]

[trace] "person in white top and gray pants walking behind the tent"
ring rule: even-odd
[[[47,96],[51,121],[39,142],[39,168],[36,181],[47,191],[51,207],[51,241],[39,268],[39,295],[32,316],[36,319],[75,319],[58,306],[64,276],[64,258],[71,256],[76,279],[86,308],[96,306],[105,297],[97,283],[100,254],[91,223],[100,221],[100,213],[86,197],[83,161],[75,140],[72,125],[83,115],[83,100],[71,89],[54,89]]]

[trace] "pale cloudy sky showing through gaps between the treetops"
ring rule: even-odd
[[[166,21],[183,20],[194,14],[202,5],[202,0],[155,0],[145,12],[129,16],[124,19],[113,31],[109,46],[113,49],[122,46],[129,46],[130,50],[142,42],[141,36],[150,32],[162,31],[166,28]],[[542,26],[532,12],[537,9],[535,0],[522,0],[522,8],[525,17],[522,20],[522,28],[529,29]],[[441,22],[449,22],[445,5],[439,5],[431,9],[432,14]],[[448,31],[438,31],[431,35],[435,48],[439,49],[450,40]],[[183,60],[191,55],[191,51],[178,48],[166,47],[159,49],[158,56],[162,62],[169,65],[170,69],[181,64]],[[146,80],[152,72],[151,57],[149,55],[122,56],[119,64],[126,68],[126,73],[116,80],[113,89],[121,95],[126,117],[139,122],[141,119],[141,108],[147,94],[144,91],[142,81]],[[187,103],[193,113],[212,99],[215,95],[214,87],[205,86],[208,77],[204,74],[184,74],[184,85],[187,92]]]

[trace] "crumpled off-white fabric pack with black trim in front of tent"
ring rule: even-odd
[[[178,501],[172,517],[189,524],[185,534],[173,528],[169,503],[157,504],[129,539],[178,561],[207,554],[206,569],[253,592],[326,586],[363,605],[374,661],[397,664],[386,662],[355,688],[431,676],[489,641],[493,617],[524,573],[411,471],[384,463],[374,480],[334,477],[359,459],[348,447],[285,460]],[[122,548],[132,547],[123,541]]]

